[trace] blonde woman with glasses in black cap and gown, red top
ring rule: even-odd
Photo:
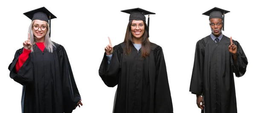
[[[23,85],[22,113],[72,113],[83,104],[64,47],[50,39],[56,17],[44,7],[24,15],[32,19],[28,39],[9,65],[10,77]]]

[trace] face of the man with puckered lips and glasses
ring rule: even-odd
[[[219,37],[221,36],[222,30],[222,19],[220,18],[212,18],[210,19],[210,27],[214,36]]]

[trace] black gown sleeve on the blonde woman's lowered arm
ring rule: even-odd
[[[80,101],[81,96],[76,86],[75,78],[70,66],[67,52],[63,46],[59,46],[58,56],[60,58],[60,70],[62,76],[62,91],[64,99],[64,113],[72,113]]]

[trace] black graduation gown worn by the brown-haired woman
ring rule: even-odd
[[[113,47],[110,64],[106,53],[99,75],[108,87],[117,86],[113,113],[173,113],[172,98],[163,50],[151,43],[148,57],[132,47],[123,52],[125,43]]]

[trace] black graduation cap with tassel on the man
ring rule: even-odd
[[[225,17],[225,14],[227,14],[229,12],[230,11],[215,7],[215,8],[210,9],[209,11],[206,11],[203,14],[206,15],[206,16],[209,16],[209,19],[211,19],[211,18],[221,18],[223,20],[222,30],[224,30],[224,17]]]

